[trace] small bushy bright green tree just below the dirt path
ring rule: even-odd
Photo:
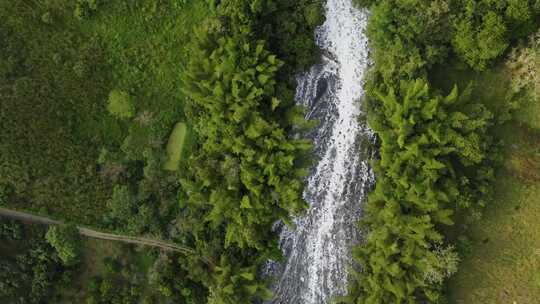
[[[56,249],[58,257],[60,257],[64,265],[72,266],[79,262],[81,239],[77,227],[73,225],[51,226],[45,238]]]

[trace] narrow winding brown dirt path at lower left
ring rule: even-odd
[[[43,224],[43,225],[63,225],[64,224],[61,221],[53,220],[48,217],[33,215],[30,213],[15,211],[15,210],[6,209],[2,207],[0,207],[0,216],[18,219],[23,222],[38,223],[38,224]],[[205,263],[212,265],[210,261],[208,261],[207,259],[203,257],[200,257],[200,255],[194,249],[189,248],[189,247],[180,246],[177,244],[168,243],[168,242],[160,241],[160,240],[149,239],[149,238],[105,233],[105,232],[100,232],[100,231],[92,230],[92,229],[81,227],[81,226],[77,226],[77,229],[79,229],[79,233],[81,235],[84,235],[89,238],[158,247],[163,250],[178,252],[184,255],[197,256],[201,258]]]

